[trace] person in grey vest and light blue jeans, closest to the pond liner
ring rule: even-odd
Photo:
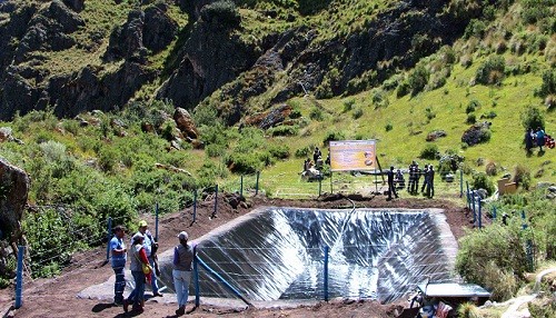
[[[176,315],[186,314],[187,298],[189,296],[189,282],[191,281],[191,262],[193,261],[193,248],[188,245],[189,236],[186,231],[178,235],[179,245],[173,248],[173,288],[178,298]]]

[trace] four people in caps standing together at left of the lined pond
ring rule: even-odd
[[[113,304],[123,306],[123,311],[132,310],[142,312],[145,308],[145,286],[149,284],[152,287],[153,297],[162,297],[159,291],[157,275],[160,276],[158,268],[158,242],[148,230],[147,221],[139,221],[138,231],[132,236],[130,249],[126,247],[123,240],[126,229],[122,226],[113,228],[113,237],[110,240],[111,265],[116,275]],[[189,296],[189,281],[191,280],[191,264],[193,261],[193,248],[188,244],[189,236],[186,231],[178,235],[179,245],[173,249],[172,278],[176,295],[178,298],[178,309],[176,315],[186,314],[186,304]],[[129,256],[131,276],[135,281],[135,289],[125,298],[126,289],[125,268]]]

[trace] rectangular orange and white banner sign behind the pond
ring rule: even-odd
[[[330,141],[330,170],[375,170],[375,140]]]

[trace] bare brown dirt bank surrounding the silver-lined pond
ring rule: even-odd
[[[385,200],[385,197],[351,198],[344,197],[321,198],[319,200],[282,200],[254,197],[247,199],[247,207],[231,208],[230,205],[219,203],[216,218],[210,218],[214,212],[214,202],[199,202],[197,206],[197,220],[191,223],[191,208],[161,218],[159,221],[159,242],[162,250],[177,244],[176,235],[186,230],[190,238],[198,238],[210,230],[228,222],[238,216],[245,215],[257,207],[299,207],[299,208],[439,208],[445,210],[447,222],[456,239],[464,233],[464,228],[469,227],[469,217],[464,208],[445,200],[408,198]],[[145,216],[153,225],[152,216]],[[8,317],[132,317],[123,314],[121,307],[111,306],[109,300],[78,299],[76,295],[88,286],[105,282],[111,275],[109,265],[103,266],[106,248],[78,254],[62,275],[54,279],[39,279],[28,281],[24,286],[23,306],[18,310],[7,310],[13,304],[13,288],[0,290],[0,314],[8,312]],[[398,305],[406,305],[404,302]],[[190,309],[192,305],[188,305]],[[394,317],[396,305],[380,305],[368,300],[334,299],[329,302],[319,302],[316,306],[301,306],[297,308],[222,308],[202,305],[190,316],[196,317]],[[151,298],[147,301],[146,317],[175,317],[176,304],[168,301],[167,297]],[[129,315],[129,316],[128,316]]]

